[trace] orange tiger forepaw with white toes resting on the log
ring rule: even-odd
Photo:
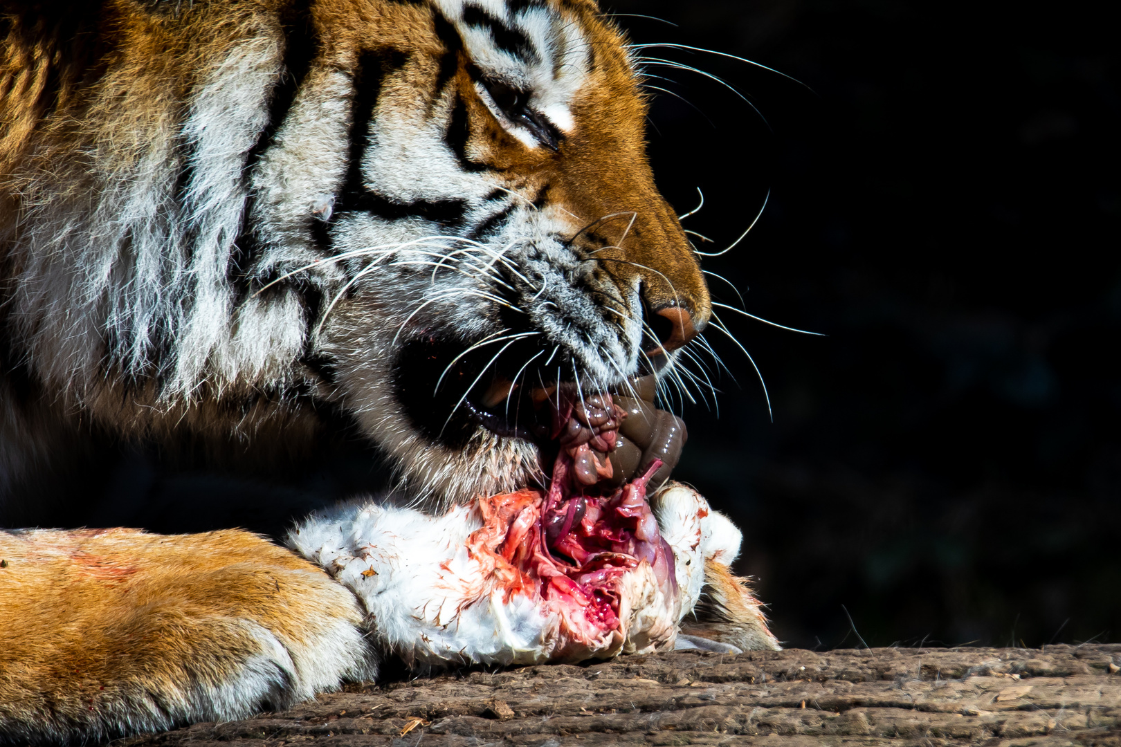
[[[0,743],[285,708],[376,662],[353,595],[244,531],[0,531]]]

